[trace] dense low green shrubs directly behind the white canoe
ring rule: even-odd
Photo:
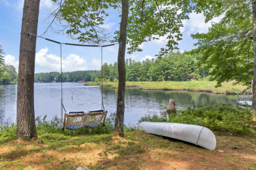
[[[228,135],[243,135],[256,130],[256,122],[249,108],[232,105],[201,105],[195,109],[181,110],[177,114],[144,116],[139,122],[175,122],[208,127]]]

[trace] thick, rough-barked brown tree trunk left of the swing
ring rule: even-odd
[[[33,82],[35,72],[35,46],[40,0],[25,0],[20,33],[20,61],[17,90],[17,138],[28,141],[35,137],[35,111]]]

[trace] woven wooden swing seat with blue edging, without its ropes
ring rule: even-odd
[[[66,113],[62,130],[65,128],[69,130],[77,130],[82,127],[95,128],[100,124],[104,127],[107,113],[108,111],[106,110]]]

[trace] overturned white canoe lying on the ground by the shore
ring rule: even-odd
[[[216,148],[215,135],[210,129],[203,126],[167,122],[141,122],[139,128],[155,135],[194,143],[209,150],[215,150]]]

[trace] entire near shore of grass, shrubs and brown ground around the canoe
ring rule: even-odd
[[[40,143],[17,143],[15,124],[6,122],[0,126],[0,169],[76,169],[81,166],[89,169],[256,169],[255,124],[251,122],[251,112],[225,105],[215,108],[183,110],[184,118],[163,114],[141,119],[168,122],[176,118],[181,122],[189,121],[190,118],[185,117],[190,113],[194,124],[203,122],[215,133],[217,148],[214,151],[134,127],[125,127],[123,138],[113,137],[114,114],[107,118],[104,128],[65,130],[64,133],[58,118],[51,121],[37,118]],[[202,113],[203,109],[207,114]],[[209,117],[218,121],[210,121]]]

